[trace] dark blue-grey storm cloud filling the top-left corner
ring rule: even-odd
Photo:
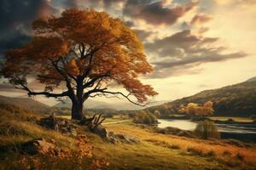
[[[0,54],[28,42],[32,20],[55,11],[46,0],[1,0],[0,4]]]

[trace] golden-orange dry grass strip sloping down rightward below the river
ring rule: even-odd
[[[153,133],[148,129],[132,126],[131,123],[123,123],[121,125],[108,125],[108,129],[118,133],[126,133],[135,136],[144,141],[158,144],[163,147],[170,145],[178,145],[184,153],[188,149],[197,150],[201,156],[214,156],[216,160],[229,163],[231,160],[240,161],[241,165],[245,164],[256,167],[256,149],[255,146],[246,148],[238,147],[232,144],[225,144],[221,141],[210,141],[201,139],[188,139],[173,135]],[[227,154],[229,153],[229,154]]]

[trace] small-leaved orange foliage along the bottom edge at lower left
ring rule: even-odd
[[[19,169],[108,169],[108,161],[93,158],[93,147],[88,144],[86,136],[79,135],[76,146],[77,150],[52,148],[36,156],[21,156],[14,166]]]

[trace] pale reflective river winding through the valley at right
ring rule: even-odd
[[[177,127],[182,130],[195,130],[197,122],[189,120],[159,119],[158,127]],[[215,124],[222,139],[240,139],[246,142],[256,142],[256,125],[247,123]]]

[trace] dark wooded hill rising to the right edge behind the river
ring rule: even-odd
[[[149,107],[149,111],[159,110],[161,114],[177,114],[181,105],[196,103],[203,105],[211,100],[214,114],[218,116],[251,116],[256,114],[256,77],[224,88],[205,90],[198,94],[172,102]]]

